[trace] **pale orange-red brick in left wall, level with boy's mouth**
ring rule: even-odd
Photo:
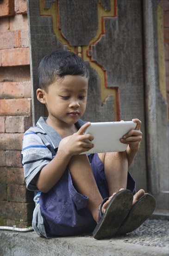
[[[0,100],[1,115],[29,115],[31,112],[30,99]]]

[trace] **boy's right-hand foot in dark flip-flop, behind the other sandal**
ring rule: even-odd
[[[136,193],[137,195],[135,195],[135,198],[133,198],[131,210],[120,225],[116,235],[124,235],[137,229],[156,209],[156,199],[154,196],[149,193],[143,194],[144,190],[140,191],[140,193],[138,192]]]

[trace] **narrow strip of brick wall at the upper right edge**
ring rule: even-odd
[[[169,105],[169,0],[163,0],[163,32],[164,32],[164,51],[165,51],[165,79],[167,102]]]

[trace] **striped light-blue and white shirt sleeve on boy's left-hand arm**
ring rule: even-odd
[[[25,132],[21,159],[27,189],[38,190],[34,178],[54,157],[49,148],[36,133],[29,130]]]

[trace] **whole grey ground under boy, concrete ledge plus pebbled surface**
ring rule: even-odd
[[[95,240],[92,234],[46,239],[35,232],[1,230],[0,256],[168,256],[169,221],[148,219],[125,236]]]

